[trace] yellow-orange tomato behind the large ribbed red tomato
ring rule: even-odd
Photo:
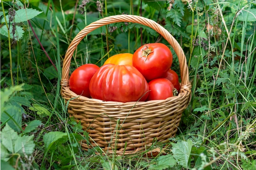
[[[121,53],[109,57],[103,64],[115,64],[115,65],[126,65],[132,66],[132,54],[131,53]]]

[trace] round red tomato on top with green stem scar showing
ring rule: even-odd
[[[171,50],[162,43],[141,46],[132,57],[132,66],[148,81],[162,77],[170,69],[172,62]]]

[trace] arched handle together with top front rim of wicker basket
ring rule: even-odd
[[[113,105],[124,104],[123,102],[112,102],[112,101],[102,101],[99,99],[91,99],[88,97],[77,95],[76,93],[72,92],[69,89],[70,63],[71,63],[74,51],[75,51],[76,47],[78,46],[78,44],[81,42],[81,40],[83,40],[83,38],[86,35],[88,35],[92,31],[94,31],[95,29],[97,29],[101,26],[116,23],[116,22],[133,22],[133,23],[137,23],[137,24],[142,24],[142,25],[145,25],[145,26],[148,26],[148,27],[154,29],[157,33],[162,35],[163,38],[165,40],[167,40],[167,42],[172,46],[172,48],[174,49],[174,51],[178,57],[179,65],[180,65],[180,77],[181,77],[179,95],[174,96],[174,97],[169,97],[165,100],[177,99],[179,97],[182,97],[183,95],[187,95],[188,93],[191,95],[191,83],[189,81],[189,71],[188,71],[188,66],[187,66],[187,62],[186,62],[186,56],[184,54],[182,47],[177,42],[177,40],[175,40],[175,38],[171,35],[171,33],[169,33],[166,29],[164,29],[163,26],[161,26],[157,22],[150,20],[148,18],[144,18],[144,17],[138,16],[138,15],[121,14],[121,15],[108,16],[105,18],[101,18],[95,22],[92,22],[91,24],[85,26],[85,28],[82,29],[72,40],[72,42],[70,43],[70,45],[67,48],[67,52],[66,52],[65,58],[63,60],[62,77],[61,77],[61,95],[63,97],[65,97],[65,95],[63,95],[63,90],[65,89],[65,91],[69,93],[68,95],[70,96],[70,98],[76,98],[81,101],[86,100],[88,102],[96,102],[99,104],[107,102],[107,103],[113,104]],[[182,94],[182,93],[185,93],[185,94]],[[165,101],[165,100],[152,100],[152,101],[147,101],[147,103],[156,103],[156,102],[161,102],[161,101]],[[190,101],[190,99],[189,99],[189,101]],[[144,104],[144,103],[145,102],[126,102],[125,104],[126,105],[136,104],[138,106],[138,105]]]

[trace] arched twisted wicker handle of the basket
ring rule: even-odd
[[[102,18],[100,20],[97,20],[95,22],[92,22],[88,26],[85,26],[84,29],[82,29],[76,37],[72,40],[70,43],[70,46],[67,48],[67,52],[65,54],[65,58],[63,61],[63,67],[62,67],[62,77],[61,77],[61,86],[69,86],[69,71],[70,71],[70,62],[72,59],[72,55],[78,46],[78,44],[83,40],[83,38],[88,35],[88,33],[94,31],[95,29],[115,23],[115,22],[134,22],[138,24],[143,24],[145,26],[148,26],[160,35],[164,37],[164,39],[171,44],[173,47],[175,53],[177,54],[177,57],[179,59],[180,63],[180,77],[181,77],[181,88],[189,89],[190,82],[189,82],[189,70],[186,62],[186,56],[184,54],[184,51],[182,50],[180,44],[173,38],[173,36],[166,30],[164,27],[162,27],[157,22],[150,20],[148,18],[144,18],[137,15],[113,15],[106,18]]]

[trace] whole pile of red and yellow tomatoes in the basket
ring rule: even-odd
[[[180,91],[172,62],[173,55],[165,44],[145,44],[134,54],[113,55],[101,67],[84,64],[76,68],[70,75],[70,90],[103,101],[167,99]]]

